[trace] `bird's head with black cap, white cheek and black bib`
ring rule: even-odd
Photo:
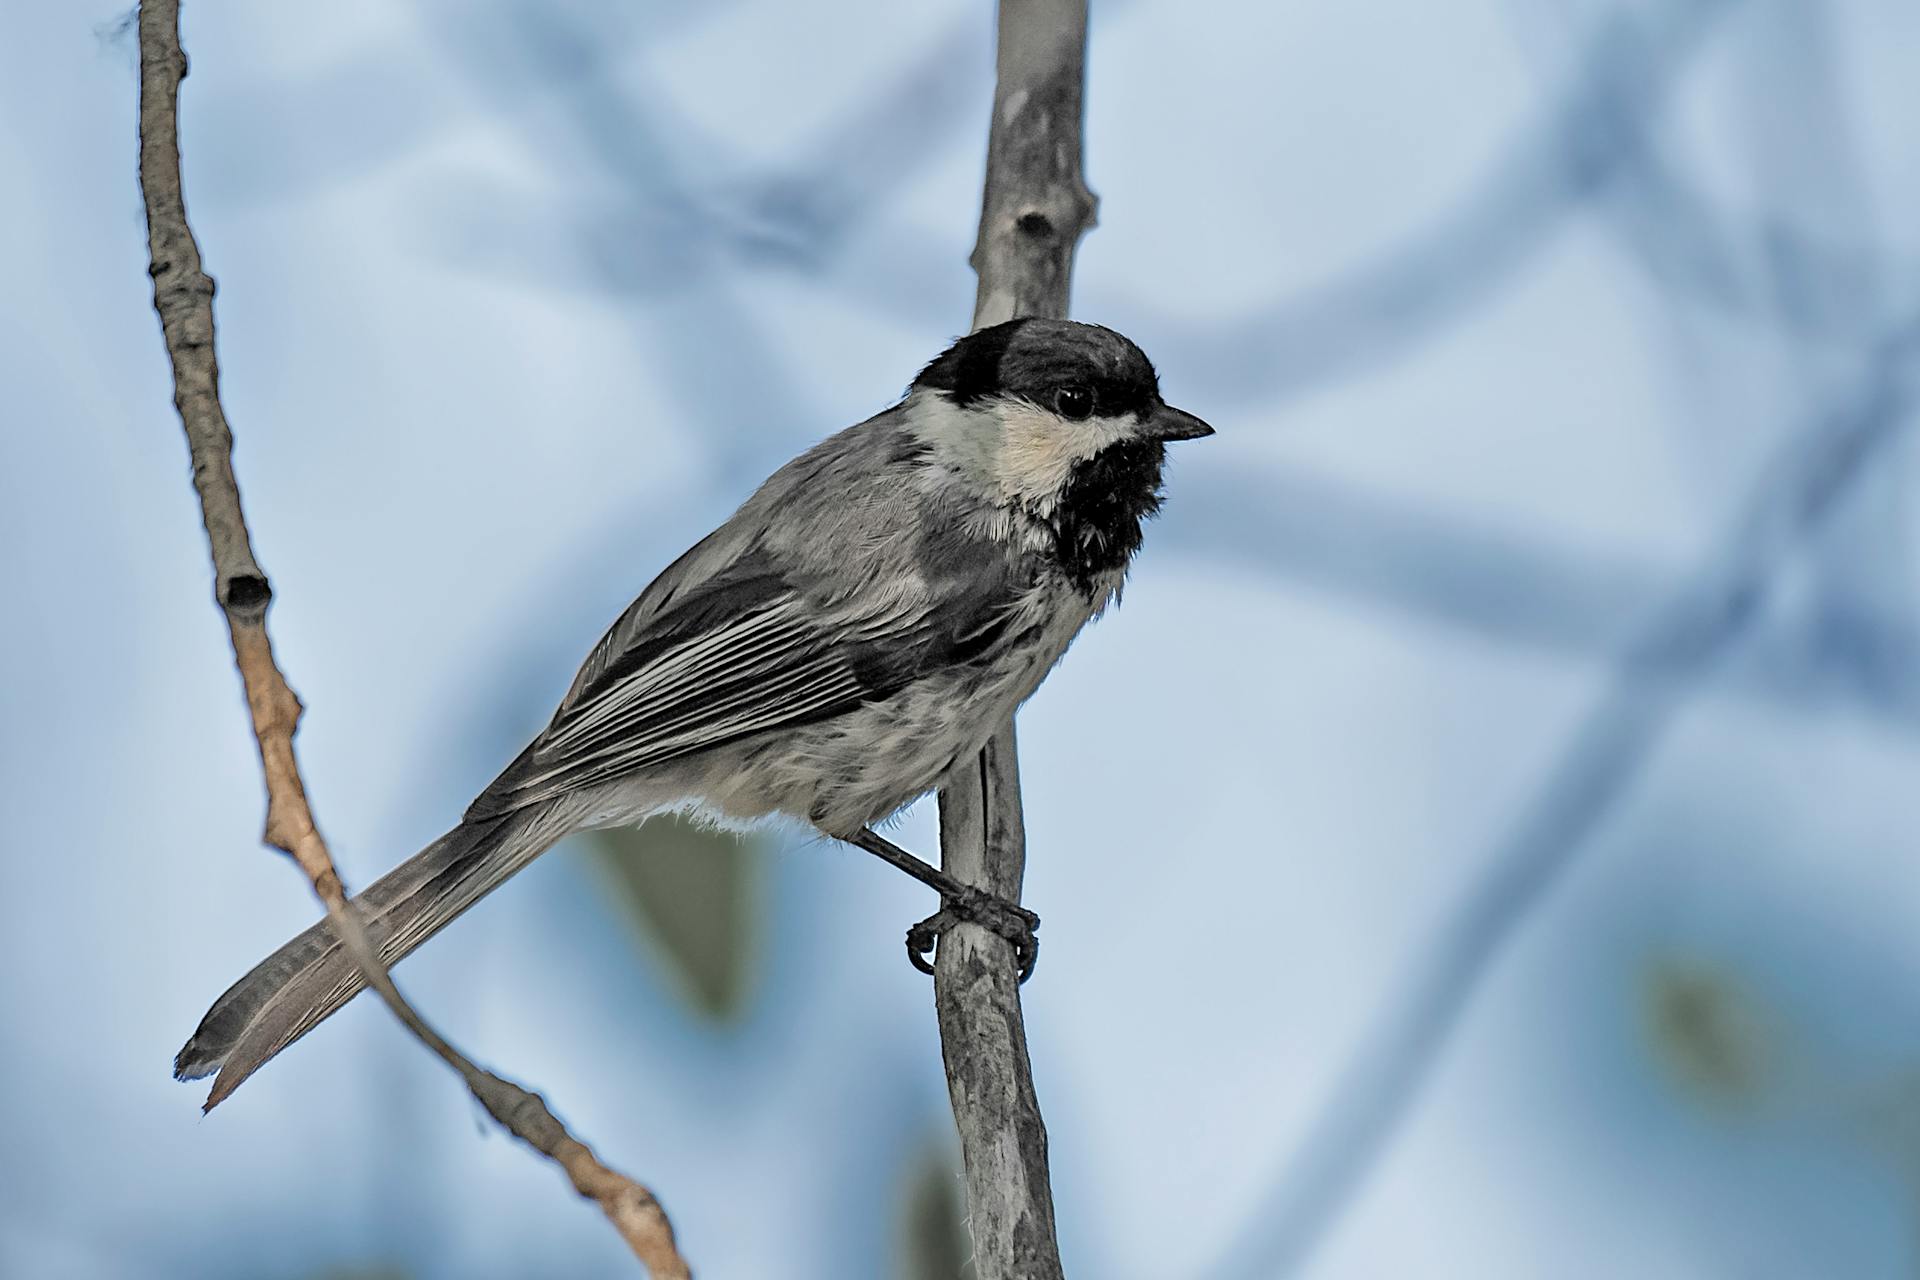
[[[1160,509],[1171,439],[1213,428],[1160,397],[1146,353],[1098,324],[968,334],[908,390],[916,436],[977,497],[1046,526],[1077,580],[1119,568]]]

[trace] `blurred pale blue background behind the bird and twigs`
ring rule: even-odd
[[[207,1119],[169,1079],[315,906],[257,846],[123,12],[13,4],[0,46],[0,1274],[630,1274],[378,1007]],[[349,883],[966,328],[991,40],[972,4],[186,6],[236,464]],[[1889,0],[1094,4],[1075,315],[1219,438],[1021,716],[1071,1274],[1920,1265],[1916,56]],[[1764,591],[1649,656],[1755,547]],[[927,1274],[929,902],[799,833],[749,865],[733,1017],[564,846],[403,984],[701,1276]]]

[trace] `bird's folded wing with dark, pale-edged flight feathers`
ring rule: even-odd
[[[630,610],[593,651],[553,723],[468,818],[828,720],[931,668],[975,658],[1002,637],[1008,595],[970,578],[835,603],[747,555],[645,618]]]

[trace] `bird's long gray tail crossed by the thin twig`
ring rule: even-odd
[[[394,963],[547,850],[564,825],[540,810],[463,821],[353,898],[382,960]],[[219,1071],[205,1109],[365,986],[323,919],[227,988],[173,1059],[179,1080]]]

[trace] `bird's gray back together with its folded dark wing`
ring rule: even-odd
[[[781,466],[662,572],[588,656],[478,821],[845,714],[1002,643],[1010,551],[950,497],[895,407]]]

